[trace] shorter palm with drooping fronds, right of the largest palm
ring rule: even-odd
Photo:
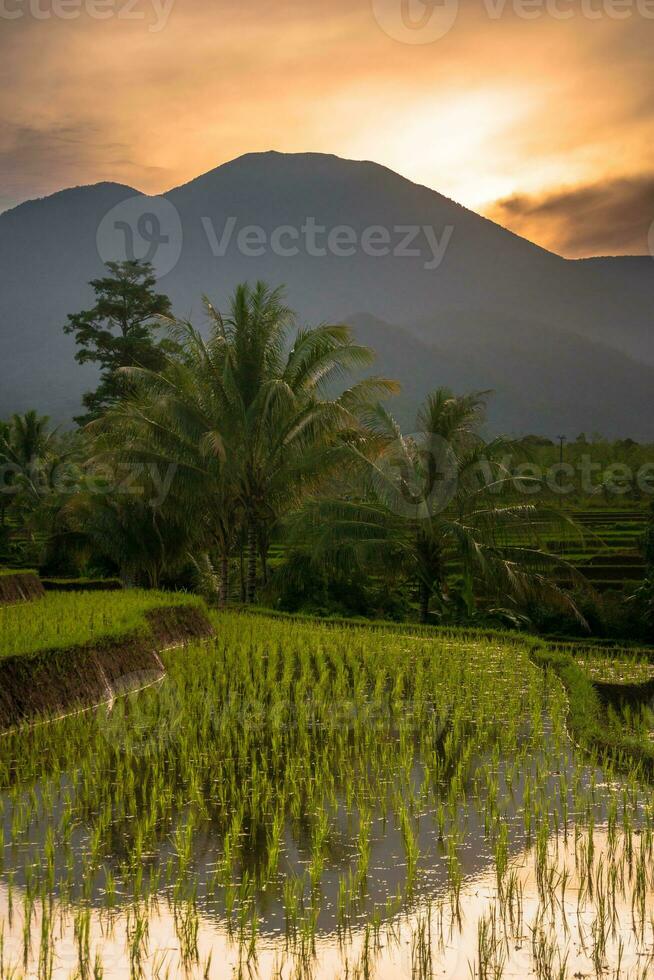
[[[537,508],[498,499],[512,478],[501,460],[507,444],[479,435],[485,398],[438,389],[410,436],[378,406],[368,418],[376,452],[354,448],[360,492],[310,501],[292,532],[298,545],[316,563],[351,568],[379,558],[403,566],[418,585],[421,622],[432,597],[447,602],[453,570],[463,577],[469,607],[483,589],[511,603],[539,599],[577,614],[549,575],[561,560],[534,541]]]

